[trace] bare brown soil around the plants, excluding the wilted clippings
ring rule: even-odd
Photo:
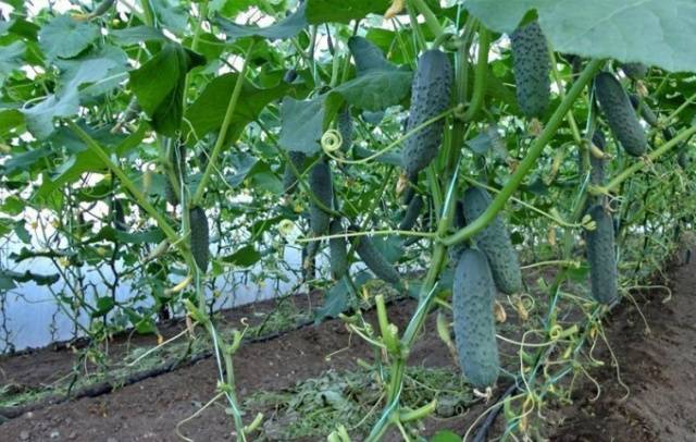
[[[629,397],[624,398],[626,392],[617,380],[617,368],[609,364],[608,351],[598,348],[595,356],[607,363],[593,371],[602,386],[600,397],[592,401],[596,391],[587,382],[576,391],[572,406],[549,412],[546,433],[551,434],[551,441],[696,441],[696,299],[692,290],[696,286],[696,262],[675,268],[670,274],[673,296],[668,303],[662,303],[666,294],[659,291],[636,295],[649,334],[637,308],[627,300],[606,326],[621,380],[631,389]],[[390,306],[390,320],[399,330],[403,330],[414,305],[406,300]],[[235,314],[239,315],[237,319],[244,317],[241,314]],[[368,319],[374,323],[372,315]],[[434,319],[430,318],[409,363],[449,367],[452,376],[458,376],[448,349],[435,333]],[[163,334],[179,329],[173,324]],[[144,340],[137,345],[153,343],[151,337],[137,340]],[[287,389],[328,369],[355,369],[357,358],[369,360],[372,356],[372,349],[350,335],[339,320],[306,327],[275,340],[244,345],[235,357],[238,393],[244,398],[260,390]],[[70,352],[50,349],[0,359],[0,383],[37,385],[70,370],[72,364]],[[110,394],[50,405],[0,425],[0,441],[181,440],[175,433],[177,422],[215,395],[216,371],[214,358],[207,358]],[[424,422],[426,433],[447,428],[463,434],[485,408],[480,404],[464,416],[430,418]],[[264,412],[269,416],[269,410]],[[252,416],[249,413],[245,419]],[[219,405],[183,425],[181,431],[195,441],[233,440],[231,419]],[[385,439],[400,440],[395,433]]]

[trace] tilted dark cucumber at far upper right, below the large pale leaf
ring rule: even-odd
[[[595,77],[595,94],[611,133],[626,154],[634,157],[645,154],[648,145],[645,131],[621,83],[612,74],[601,72]]]

